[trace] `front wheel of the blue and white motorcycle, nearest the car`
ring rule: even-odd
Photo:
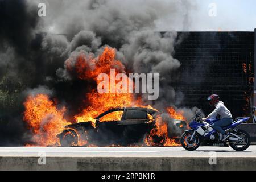
[[[185,150],[193,151],[200,146],[201,140],[199,135],[195,134],[191,139],[193,133],[183,133],[180,138],[180,143]]]

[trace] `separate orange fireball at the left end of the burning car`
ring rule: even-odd
[[[56,135],[69,124],[63,118],[65,107],[57,109],[46,94],[28,96],[24,106],[23,119],[35,134],[32,140],[39,146],[55,145],[59,141]]]

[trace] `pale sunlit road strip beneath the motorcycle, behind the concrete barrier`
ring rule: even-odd
[[[237,152],[231,147],[199,147],[187,151],[183,147],[0,147],[1,156],[55,157],[206,157],[216,151],[217,157],[256,157],[256,146]]]

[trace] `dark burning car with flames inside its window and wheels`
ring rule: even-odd
[[[61,146],[164,146],[167,137],[181,135],[187,129],[187,124],[165,117],[162,121],[168,126],[168,134],[154,134],[158,130],[156,118],[160,115],[159,111],[143,107],[110,109],[98,115],[94,121],[65,126],[57,137]]]

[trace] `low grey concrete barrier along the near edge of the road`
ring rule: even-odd
[[[156,157],[156,158],[72,158],[49,157],[39,165],[35,157],[1,157],[0,170],[255,170],[256,157],[217,158],[216,165],[209,158]]]

